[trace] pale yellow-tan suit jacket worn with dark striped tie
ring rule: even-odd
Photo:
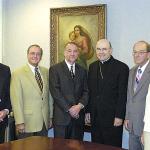
[[[10,94],[15,123],[25,123],[25,132],[42,130],[43,122],[48,128],[48,122],[52,118],[48,69],[40,67],[40,72],[43,79],[43,92],[40,91],[28,65],[12,73]]]

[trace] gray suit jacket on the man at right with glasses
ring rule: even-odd
[[[141,136],[144,127],[145,101],[150,84],[150,63],[145,68],[138,87],[134,92],[135,77],[138,66],[133,67],[129,73],[128,94],[126,105],[126,119],[129,120],[129,130]]]

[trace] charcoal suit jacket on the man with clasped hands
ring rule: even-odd
[[[69,108],[78,103],[87,105],[87,73],[80,65],[75,64],[75,78],[72,79],[68,66],[63,61],[52,66],[49,75],[50,91],[54,99],[54,124],[67,125],[71,120]],[[83,111],[80,111],[80,118],[77,119],[79,123],[84,122]]]

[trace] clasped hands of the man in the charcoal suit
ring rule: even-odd
[[[73,105],[69,109],[69,114],[71,115],[72,118],[78,119],[80,110],[81,110],[81,106],[79,104],[78,105]]]

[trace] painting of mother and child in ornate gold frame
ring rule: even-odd
[[[50,9],[50,65],[64,59],[64,46],[78,45],[79,63],[88,65],[96,59],[95,45],[106,36],[106,5]],[[86,50],[85,56],[83,52]]]

